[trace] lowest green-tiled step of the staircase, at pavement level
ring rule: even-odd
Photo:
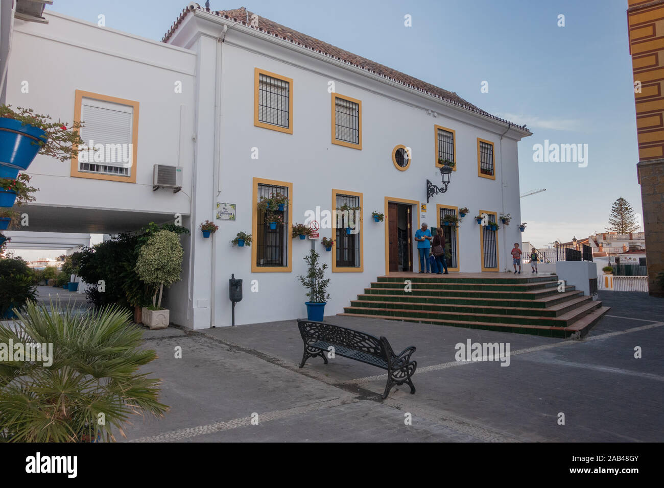
[[[437,319],[422,319],[413,320],[405,319],[410,322],[432,323],[436,325],[451,325],[453,327],[466,327],[469,329],[485,329],[489,331],[500,332],[513,332],[518,334],[533,334],[542,335],[545,337],[570,337],[574,334],[579,334],[584,337],[590,329],[602,319],[602,317],[610,310],[610,307],[599,307],[594,311],[588,313],[580,320],[576,321],[569,327],[550,327],[544,325],[517,325],[506,323],[489,323],[489,322],[471,322],[471,321],[444,321]],[[404,321],[401,317],[393,317],[390,315],[365,315],[361,313],[339,313],[339,315],[346,315],[349,317],[371,317],[373,319],[386,319],[386,320],[399,320]]]

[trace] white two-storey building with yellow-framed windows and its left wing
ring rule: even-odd
[[[161,43],[44,17],[48,25],[15,21],[7,103],[80,118],[83,139],[131,144],[133,157],[128,166],[38,156],[27,171],[40,189],[30,230],[113,234],[181,215],[192,232],[182,238],[182,280],[167,295],[173,323],[230,325],[231,274],[244,280],[236,323],[304,316],[297,276],[311,242],[291,239],[290,226],[344,203],[361,206],[359,232],[325,228],[322,218],[321,238],[336,244],[325,252],[315,242],[330,266],[326,315],[376,276],[417,271],[414,231],[464,206],[458,230],[447,230],[450,271],[511,268],[518,226],[491,232],[473,217],[521,221],[517,143],[527,129],[244,9],[193,4]],[[427,203],[426,181],[441,185],[438,157],[456,169],[448,191]],[[155,164],[181,167],[181,191],[153,191]],[[269,230],[258,201],[276,192],[290,204],[284,226]],[[234,205],[234,220],[216,219],[218,204]],[[212,238],[198,230],[205,220],[219,226]],[[252,234],[251,247],[231,246],[240,231]]]

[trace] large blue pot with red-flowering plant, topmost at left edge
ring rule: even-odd
[[[81,127],[80,122],[53,122],[32,109],[0,105],[0,178],[16,178],[38,153],[70,161],[84,144],[78,133]]]

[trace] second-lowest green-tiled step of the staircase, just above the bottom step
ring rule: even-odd
[[[498,313],[465,313],[459,311],[440,311],[434,307],[441,305],[418,305],[417,309],[391,307],[393,302],[384,302],[382,307],[344,307],[344,313],[357,313],[363,315],[386,315],[400,317],[403,320],[420,321],[423,319],[436,319],[442,321],[479,321],[485,323],[508,323],[515,325],[543,325],[548,327],[567,327],[586,313],[602,305],[599,301],[590,301],[568,311],[558,317],[540,317],[534,315],[507,315]],[[408,305],[408,304],[406,304]]]

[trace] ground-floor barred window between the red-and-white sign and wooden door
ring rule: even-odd
[[[336,238],[336,267],[360,267],[360,221],[358,216],[361,210],[342,211],[344,207],[357,208],[361,206],[360,197],[337,193],[337,238]],[[351,228],[351,234],[346,228]]]

